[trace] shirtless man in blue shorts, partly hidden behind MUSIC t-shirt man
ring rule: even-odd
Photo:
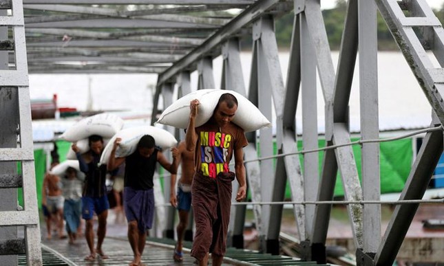
[[[178,148],[173,149],[173,153],[176,153],[178,163],[182,162],[181,170],[182,174],[178,182],[178,191],[176,197],[176,175],[171,175],[169,202],[172,206],[178,209],[179,223],[176,228],[178,234],[178,243],[176,243],[176,249],[174,250],[174,261],[183,261],[182,241],[184,239],[185,230],[187,229],[189,210],[191,208],[191,182],[194,175],[194,151],[187,151],[185,142],[179,143]]]

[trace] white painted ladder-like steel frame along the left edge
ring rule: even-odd
[[[2,15],[6,12],[1,12]],[[1,16],[4,18],[5,16]],[[9,21],[8,21],[9,19]],[[16,155],[7,158],[0,156],[1,161],[21,162],[22,186],[23,186],[23,210],[3,212],[0,215],[0,226],[23,225],[25,236],[26,261],[28,265],[42,265],[41,257],[41,235],[39,226],[39,209],[37,207],[36,180],[34,171],[33,141],[31,127],[31,107],[30,91],[28,87],[28,63],[25,47],[25,30],[23,25],[23,6],[21,0],[12,1],[12,16],[2,20],[0,26],[12,27],[12,41],[14,42],[14,63],[15,67],[1,70],[0,85],[10,87],[8,89],[16,90],[15,98],[17,101],[18,113],[6,112],[0,115],[16,116],[18,124],[12,123],[6,126],[12,127],[10,138],[17,145],[17,135],[19,135],[19,146],[16,148],[2,148],[2,155]],[[8,23],[10,23],[8,25]],[[8,57],[6,57],[6,66],[8,66]],[[18,116],[18,117],[17,117]],[[14,118],[13,118],[14,119]],[[18,126],[18,131],[17,131]],[[15,168],[15,167],[14,167]],[[14,173],[11,173],[14,175]],[[16,196],[13,198],[17,201]],[[8,193],[3,193],[8,197]],[[17,206],[15,206],[17,209]],[[16,234],[17,236],[17,234]],[[17,258],[15,259],[17,262]],[[3,261],[8,263],[8,261]]]

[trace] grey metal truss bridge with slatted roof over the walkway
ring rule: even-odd
[[[423,145],[385,232],[381,232],[378,146],[378,91],[383,89],[377,79],[378,12],[433,111],[430,129],[423,131]],[[294,22],[284,80],[274,21],[288,13],[294,14]],[[253,43],[249,88],[241,68],[242,41]],[[440,66],[432,63],[430,54]],[[357,264],[392,265],[443,152],[444,31],[425,0],[348,0],[337,67],[319,0],[0,0],[2,264],[16,265],[17,254],[25,254],[28,265],[43,263],[28,74],[158,74],[154,124],[160,103],[166,107],[176,100],[175,95],[215,87],[212,65],[218,56],[223,58],[220,88],[242,93],[269,120],[275,115],[278,156],[273,156],[271,129],[249,133],[251,144],[244,149],[261,250],[278,252],[288,181],[302,259],[325,263],[339,171]],[[361,140],[352,143],[348,104],[357,62]],[[198,72],[197,87],[191,87],[193,71]],[[317,113],[319,90],[325,103],[322,114]],[[297,109],[302,109],[302,135],[297,135]],[[318,132],[319,117],[325,118],[324,135]],[[169,130],[180,138],[178,131]],[[319,137],[326,141],[321,170]],[[295,145],[298,139],[304,150]],[[352,144],[361,145],[361,181]],[[17,208],[17,188],[23,188],[23,209]],[[165,186],[158,195],[168,196],[169,188]],[[246,204],[233,205],[231,246],[242,247],[245,213]],[[160,206],[157,214],[163,214],[158,229],[171,238],[173,208]],[[23,238],[17,236],[17,228],[23,228]]]

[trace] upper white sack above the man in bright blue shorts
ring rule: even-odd
[[[123,119],[112,113],[99,113],[73,124],[60,138],[68,142],[77,142],[90,135],[99,135],[104,138],[112,137],[123,127]]]

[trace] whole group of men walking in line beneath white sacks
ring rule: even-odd
[[[153,178],[156,164],[159,163],[171,173],[170,203],[178,209],[179,223],[176,228],[178,241],[173,252],[174,261],[183,260],[182,242],[187,228],[189,210],[193,206],[195,234],[191,256],[196,259],[198,265],[207,265],[209,254],[211,254],[213,265],[222,265],[231,210],[231,182],[234,179],[237,179],[239,183],[236,201],[242,201],[246,197],[242,148],[248,144],[248,141],[244,130],[232,122],[238,105],[235,96],[231,93],[222,94],[210,120],[196,126],[199,104],[199,100],[190,102],[185,140],[182,140],[177,147],[171,148],[172,162],[169,162],[160,148],[156,146],[156,140],[151,135],[142,136],[136,151],[126,157],[116,157],[116,150],[121,141],[117,137],[107,164],[99,164],[104,149],[102,137],[90,136],[89,151],[83,154],[75,143],[72,144],[72,150],[76,153],[85,179],[82,181],[80,175],[72,173],[72,170],[70,170],[69,179],[68,177],[61,179],[81,181],[64,185],[64,188],[70,187],[69,191],[72,195],[66,194],[68,190],[63,193],[66,194],[65,209],[66,199],[72,199],[78,202],[78,205],[72,204],[74,206],[72,209],[80,210],[81,208],[81,216],[85,219],[85,239],[89,247],[89,255],[85,257],[85,261],[109,258],[102,249],[109,209],[105,179],[107,173],[112,173],[125,164],[123,208],[128,225],[127,237],[134,254],[129,265],[143,265],[142,253],[145,249],[147,232],[154,223]],[[234,172],[229,167],[233,156]],[[176,192],[176,174],[179,164],[181,164],[181,175],[177,182]],[[57,184],[59,181],[51,183]],[[78,186],[78,184],[81,185]],[[46,197],[44,205],[49,206],[50,200],[50,196]],[[56,204],[60,206],[63,203]],[[94,214],[98,220],[96,245],[94,245],[93,230]],[[66,216],[66,213],[63,215]],[[76,240],[77,230],[81,230],[80,221],[73,222],[72,227],[68,225],[68,220],[66,221],[71,243]],[[63,220],[61,224],[63,227]],[[61,231],[59,236],[63,236]]]

